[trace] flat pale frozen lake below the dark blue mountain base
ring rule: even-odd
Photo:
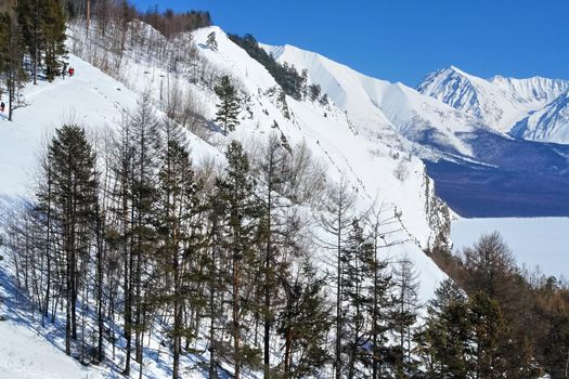
[[[462,219],[452,222],[454,250],[473,246],[497,231],[519,266],[539,266],[546,275],[569,278],[569,218]]]

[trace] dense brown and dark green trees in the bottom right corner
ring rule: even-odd
[[[432,375],[569,378],[567,283],[517,267],[497,233],[460,256],[429,254],[453,279],[429,304],[421,338]]]

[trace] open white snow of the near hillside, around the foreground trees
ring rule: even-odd
[[[148,31],[143,29],[141,32],[144,30]],[[204,44],[211,31],[217,35],[218,51],[211,51]],[[397,136],[391,121],[382,116],[382,112],[370,108],[372,119],[383,117],[387,133],[382,134],[382,138],[392,136],[384,141],[382,138],[374,139],[368,133],[360,133],[354,129],[352,120],[335,105],[324,107],[286,97],[289,110],[287,117],[282,104],[274,96],[274,79],[260,64],[231,42],[221,29],[211,27],[197,30],[193,41],[199,56],[212,71],[234,78],[250,112],[242,113],[241,126],[229,138],[216,132],[212,125],[209,143],[186,132],[194,162],[199,165],[202,159],[212,158],[222,164],[222,152],[231,139],[238,139],[246,146],[255,146],[263,143],[271,133],[277,133],[293,148],[296,143],[306,143],[318,159],[326,162],[332,180],[344,178],[349,181],[359,194],[361,210],[375,205],[384,207],[390,214],[401,214],[402,228],[390,237],[401,244],[386,252],[386,259],[393,262],[403,257],[411,259],[419,273],[421,300],[429,299],[445,275],[422,249],[432,244],[448,220],[441,213],[442,204],[434,195],[434,185],[425,174],[423,162],[414,156],[403,154],[405,151],[401,149],[401,144],[406,142]],[[135,107],[143,91],[152,91],[155,104],[160,105],[159,90],[165,82],[168,87],[177,84],[183,91],[191,92],[203,104],[203,116],[209,120],[214,118],[217,99],[211,90],[203,83],[187,81],[183,71],[172,74],[166,64],[160,66],[160,63],[137,60],[129,55],[131,52],[128,50],[121,62],[121,65],[128,67],[121,78],[124,83],[70,54],[69,63],[76,71],[74,77],[65,80],[57,78],[53,83],[28,84],[24,89],[26,105],[16,109],[14,121],[9,122],[5,117],[0,121],[0,201],[4,206],[16,206],[18,199],[33,195],[31,177],[37,166],[37,153],[44,146],[53,130],[62,123],[79,123],[92,134],[107,132],[120,121],[124,112]],[[406,89],[393,87],[388,90],[393,91],[393,95],[401,93],[401,96],[408,96]],[[384,99],[384,103],[388,104],[388,99]],[[392,113],[390,115],[393,117]],[[377,130],[375,125],[370,123],[368,127]],[[319,253],[321,257],[325,254],[325,250]],[[14,297],[15,289],[7,290],[13,287],[13,282],[4,266],[0,267],[0,275],[4,299]],[[2,305],[0,313],[14,313],[16,308],[23,309],[22,303],[12,300],[3,304],[5,306]],[[116,367],[86,369],[72,358],[63,356],[61,335],[52,336],[53,338],[38,335],[30,318],[29,312],[24,312],[21,317],[14,316],[8,322],[0,322],[0,334],[5,336],[0,338],[0,353],[2,357],[10,356],[8,360],[0,360],[0,376],[14,378],[23,370],[28,377],[41,373],[44,374],[41,377],[49,377],[46,373],[65,378],[116,377]],[[56,328],[49,330],[57,332]],[[148,365],[143,368],[145,378],[171,375],[168,371],[169,355],[164,354],[164,351],[160,356],[155,353],[160,349],[158,342],[156,339],[150,341],[153,348],[146,360]],[[41,355],[42,358],[29,361],[29,354],[24,350],[28,344],[34,345],[28,353]],[[124,354],[117,353],[112,364],[120,367],[122,357]],[[182,366],[186,369],[195,368],[198,362],[206,358],[207,356],[187,355]],[[31,367],[22,369],[27,364]],[[203,378],[204,375],[194,369],[187,371],[187,377]]]

